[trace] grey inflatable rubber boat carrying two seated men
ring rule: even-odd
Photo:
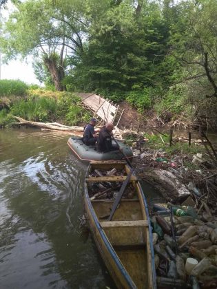
[[[118,144],[121,149],[123,149],[123,153],[125,153],[127,158],[133,157],[133,153],[130,147],[127,147],[127,145],[123,144],[122,142],[118,142]],[[119,150],[109,151],[107,153],[99,153],[96,151],[95,146],[85,145],[82,141],[82,138],[78,137],[69,138],[68,146],[80,160],[122,160],[124,158],[123,153],[121,153]]]

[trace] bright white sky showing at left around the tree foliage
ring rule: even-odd
[[[8,1],[8,10],[2,9],[1,14],[3,17],[8,17],[8,13],[12,10],[12,4]],[[1,55],[1,59],[3,55]],[[28,58],[27,61],[10,61],[8,65],[1,62],[1,79],[20,79],[25,83],[40,84],[34,75],[32,68],[32,58]]]

